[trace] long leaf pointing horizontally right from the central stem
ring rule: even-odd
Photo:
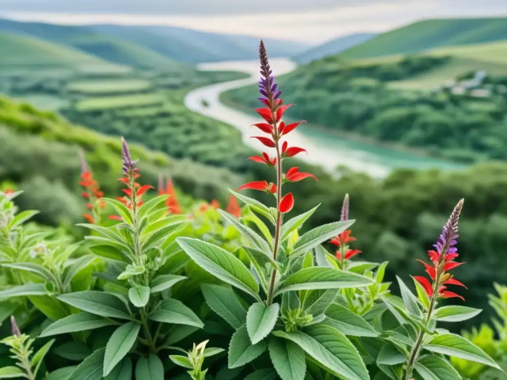
[[[334,268],[305,268],[289,276],[275,296],[289,290],[355,288],[370,285],[372,282],[368,277]]]

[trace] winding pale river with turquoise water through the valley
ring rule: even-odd
[[[296,67],[294,62],[284,58],[270,60],[270,63],[277,76],[291,72]],[[257,61],[204,63],[198,68],[200,70],[242,71],[251,75],[247,79],[193,90],[187,94],[185,105],[192,111],[234,126],[241,131],[245,145],[259,151],[266,151],[266,146],[260,141],[250,138],[263,135],[256,127],[250,127],[253,123],[260,123],[262,119],[247,115],[220,102],[220,94],[223,92],[257,83],[259,81],[259,63]],[[338,165],[345,165],[354,171],[365,172],[374,177],[384,177],[394,168],[457,169],[464,167],[461,164],[396,150],[371,142],[328,134],[321,129],[316,130],[308,124],[299,126],[284,138],[289,146],[301,146],[308,151],[308,156],[301,153],[298,155],[299,159],[320,165],[330,172],[335,171]]]

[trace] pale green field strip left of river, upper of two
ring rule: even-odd
[[[152,84],[142,79],[119,79],[119,80],[96,80],[76,81],[67,85],[67,91],[80,92],[84,94],[111,94],[143,91],[152,88]]]

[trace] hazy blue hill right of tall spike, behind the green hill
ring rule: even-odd
[[[303,53],[294,56],[293,59],[298,63],[305,64],[315,59],[320,59],[328,55],[335,55],[341,53],[346,49],[349,49],[356,45],[362,44],[368,40],[371,40],[375,36],[376,34],[374,33],[348,34],[343,37],[338,37],[337,39],[329,41],[325,44],[308,49]]]

